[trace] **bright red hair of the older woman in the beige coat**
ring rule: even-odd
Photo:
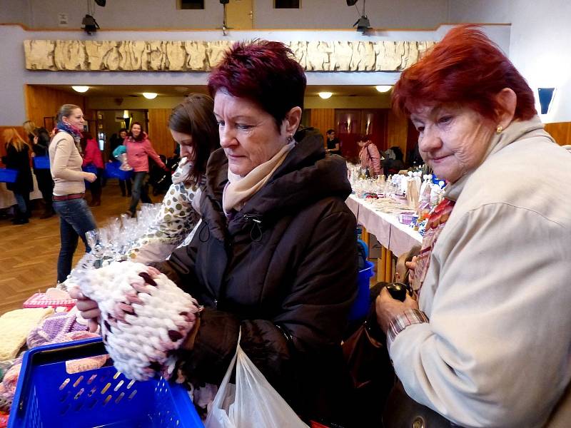
[[[533,92],[507,56],[474,25],[462,25],[403,71],[393,88],[393,109],[410,116],[422,106],[458,103],[496,121],[497,93],[510,88],[517,96],[515,119],[537,114]]]

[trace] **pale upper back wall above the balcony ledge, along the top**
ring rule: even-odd
[[[236,1],[236,0],[232,0]],[[256,29],[350,29],[359,15],[345,0],[302,0],[300,9],[273,9],[273,0],[251,0]],[[203,10],[176,9],[177,0],[109,0],[95,6],[102,29],[215,29],[223,6],[205,0]],[[357,3],[362,11],[363,1]],[[34,29],[58,28],[58,14],[78,29],[87,13],[84,0],[1,0],[0,22]],[[377,29],[435,29],[448,21],[448,0],[369,0],[365,14]]]

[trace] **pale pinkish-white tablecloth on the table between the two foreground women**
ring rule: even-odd
[[[413,245],[423,242],[423,237],[408,225],[398,221],[398,215],[375,210],[373,200],[360,199],[350,195],[345,203],[357,218],[357,223],[373,233],[383,247],[399,256],[410,250]]]

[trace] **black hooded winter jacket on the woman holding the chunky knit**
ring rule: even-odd
[[[159,268],[206,307],[194,348],[181,358],[188,377],[220,383],[241,328],[241,347],[293,409],[331,420],[349,387],[340,341],[357,292],[355,217],[344,202],[345,161],[325,157],[311,128],[295,139],[228,224],[228,159],[214,152],[202,227]]]

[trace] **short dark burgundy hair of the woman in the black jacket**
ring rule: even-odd
[[[273,116],[278,130],[293,107],[303,109],[305,73],[279,41],[236,42],[208,78],[212,97],[223,90],[247,98]]]

